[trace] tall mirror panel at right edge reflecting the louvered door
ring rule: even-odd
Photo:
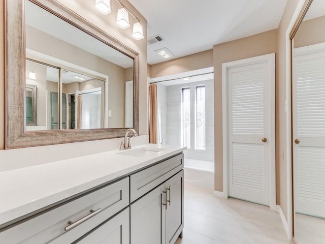
[[[294,237],[325,240],[325,2],[313,0],[294,38]]]

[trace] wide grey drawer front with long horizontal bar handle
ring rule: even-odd
[[[0,243],[47,243],[62,235],[65,243],[71,243],[128,204],[129,179],[126,177],[0,232]],[[78,220],[79,225],[65,229],[70,226],[69,221]]]

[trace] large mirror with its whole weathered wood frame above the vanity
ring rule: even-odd
[[[139,54],[60,3],[6,1],[6,52],[6,148],[138,131]]]

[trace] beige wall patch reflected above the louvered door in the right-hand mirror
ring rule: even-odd
[[[295,48],[325,42],[324,26],[325,16],[303,21],[294,39]]]

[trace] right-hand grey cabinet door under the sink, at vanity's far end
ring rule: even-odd
[[[166,243],[174,244],[184,227],[184,170],[165,183],[167,189]]]

